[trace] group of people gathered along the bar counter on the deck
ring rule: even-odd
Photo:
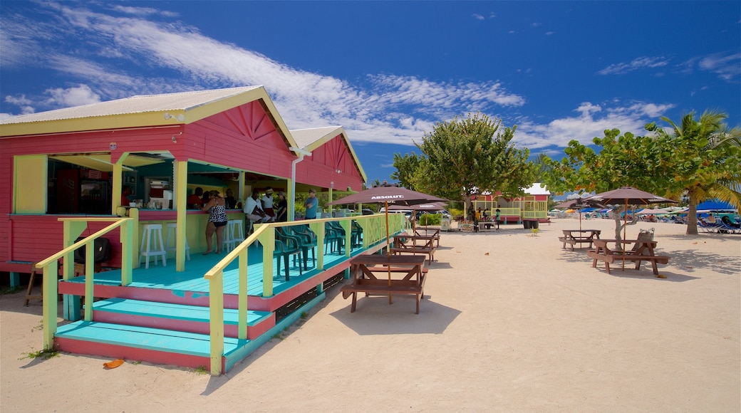
[[[204,202],[205,201],[205,202]],[[226,190],[226,196],[222,197],[219,191],[207,191],[203,193],[202,188],[196,188],[193,195],[187,200],[189,207],[197,207],[204,212],[208,212],[208,223],[206,224],[206,251],[203,255],[210,254],[213,251],[213,235],[216,234],[216,254],[222,250],[224,242],[224,228],[227,225],[227,209],[235,209],[239,203],[233,196],[232,189]],[[316,198],[316,191],[309,189],[309,197],[305,204],[305,219],[316,218],[316,209],[319,206],[319,200]],[[288,201],[285,198],[285,192],[278,192],[278,200],[273,200],[273,188],[265,189],[264,195],[260,198],[260,192],[253,189],[252,195],[245,200],[245,216],[252,224],[265,222],[285,222],[288,221]]]

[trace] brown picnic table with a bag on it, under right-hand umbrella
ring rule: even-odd
[[[615,249],[610,249],[608,244],[616,244]],[[633,249],[627,249],[633,245]],[[656,255],[654,248],[657,246],[656,241],[650,240],[594,240],[595,249],[587,251],[587,255],[593,258],[592,266],[597,267],[597,261],[605,261],[605,269],[610,274],[610,264],[615,261],[634,261],[635,269],[641,268],[641,261],[651,262],[654,269],[654,275],[659,275],[657,263],[668,263],[667,255]]]

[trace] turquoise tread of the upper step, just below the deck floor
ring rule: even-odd
[[[109,298],[93,303],[95,312],[116,312],[139,317],[168,318],[170,320],[209,322],[210,309],[203,306],[186,306],[183,304],[158,303],[154,301],[132,300],[127,298]],[[254,326],[270,318],[272,313],[247,310],[247,325]],[[224,309],[225,325],[238,325],[239,311]]]

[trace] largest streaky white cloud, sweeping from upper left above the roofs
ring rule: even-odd
[[[78,36],[68,47],[60,44],[53,51],[36,53],[40,56],[38,64],[54,67],[85,86],[51,90],[53,98],[44,102],[47,106],[90,103],[100,96],[109,99],[192,90],[194,85],[199,89],[263,85],[290,128],[341,124],[353,141],[411,144],[413,138],[431,130],[434,122],[430,119],[525,104],[525,98],[497,81],[368,75],[371,87],[364,88],[332,76],[296,70],[259,53],[203,36],[194,27],[148,20],[146,16],[156,11],[149,8],[116,6],[117,11],[126,13],[120,17],[73,8],[68,3],[49,5],[66,18],[61,21],[67,25],[54,28],[59,37],[64,38],[67,32]],[[158,75],[171,73],[172,77],[133,78],[119,69],[132,62],[152,67]]]

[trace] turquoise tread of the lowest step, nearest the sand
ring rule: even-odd
[[[211,351],[208,335],[96,321],[76,321],[59,326],[55,337],[198,357],[210,357]],[[229,355],[248,343],[250,340],[224,338],[224,355]]]

